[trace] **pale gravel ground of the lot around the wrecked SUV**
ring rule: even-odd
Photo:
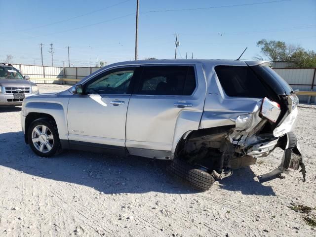
[[[40,85],[40,92],[66,86]],[[316,107],[303,105],[295,132],[307,181],[292,171],[260,184],[282,151],[199,193],[166,175],[166,161],[66,151],[40,158],[24,143],[19,107],[0,108],[0,236],[316,236]]]

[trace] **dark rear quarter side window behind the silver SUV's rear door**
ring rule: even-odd
[[[249,67],[216,66],[217,77],[228,96],[264,98],[268,91]]]

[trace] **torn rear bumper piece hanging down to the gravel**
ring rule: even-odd
[[[300,172],[303,175],[303,182],[305,182],[306,170],[302,151],[299,143],[297,142],[294,132],[288,132],[279,147],[284,150],[281,164],[273,171],[259,175],[258,179],[260,183],[267,182],[269,180],[280,177],[281,173],[288,173],[288,169],[298,170],[301,167]]]

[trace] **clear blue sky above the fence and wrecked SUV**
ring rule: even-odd
[[[236,59],[247,46],[242,59],[252,59],[263,38],[316,50],[316,0],[253,4],[267,1],[273,0],[140,0],[139,59],[173,58],[176,33],[179,58],[194,52]],[[188,9],[236,4],[252,5]],[[160,11],[174,9],[183,10]],[[93,66],[97,57],[108,64],[133,60],[135,11],[136,0],[0,0],[0,61],[11,54],[14,63],[40,65],[39,43],[44,65],[50,43],[54,66],[68,64],[68,45],[75,66]]]

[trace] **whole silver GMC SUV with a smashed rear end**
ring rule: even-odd
[[[206,190],[276,147],[284,150],[281,164],[259,180],[299,166],[305,177],[291,132],[298,103],[267,62],[130,61],[25,99],[21,122],[39,156],[79,149],[172,160],[172,174]]]

